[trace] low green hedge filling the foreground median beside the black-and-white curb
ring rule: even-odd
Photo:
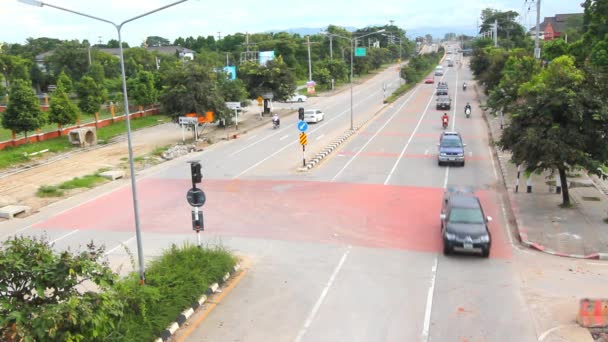
[[[137,272],[115,285],[125,304],[125,315],[116,322],[116,340],[154,340],[235,264],[236,259],[222,248],[172,245],[148,265],[145,286],[138,284]]]

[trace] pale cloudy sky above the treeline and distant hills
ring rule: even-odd
[[[47,3],[120,24],[175,1],[48,0]],[[582,13],[582,1],[543,0],[541,21],[556,13]],[[217,39],[218,34],[223,37],[237,32],[324,28],[330,24],[363,28],[386,25],[392,20],[406,31],[445,29],[444,32],[473,34],[481,10],[488,7],[515,10],[521,14],[521,24],[526,27],[535,24],[536,5],[532,0],[232,0],[226,4],[189,0],[126,23],[121,33],[123,41],[139,46],[147,36],[160,36],[173,42],[178,37],[213,35]],[[117,39],[118,34],[109,23],[48,6],[0,0],[0,42],[24,44],[29,37],[106,43]]]

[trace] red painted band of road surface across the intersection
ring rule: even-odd
[[[139,182],[144,233],[191,232],[189,180]],[[205,234],[350,244],[423,252],[441,250],[439,188],[303,181],[205,180]],[[480,191],[487,215],[498,218],[497,196]],[[130,188],[102,196],[36,224],[41,229],[134,231]],[[491,223],[492,257],[510,248]]]

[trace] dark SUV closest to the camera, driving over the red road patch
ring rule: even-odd
[[[492,237],[488,223],[492,217],[485,216],[481,202],[472,190],[446,190],[440,218],[443,254],[462,250],[481,252],[486,258],[490,256]]]

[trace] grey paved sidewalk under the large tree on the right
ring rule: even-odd
[[[479,101],[485,102],[477,84],[474,88]],[[499,140],[500,118],[487,113],[484,116],[492,140]],[[548,173],[531,175],[532,192],[528,193],[528,179],[522,171],[519,191],[515,192],[517,167],[510,162],[511,153],[495,150],[522,244],[553,255],[608,259],[608,223],[604,222],[608,217],[608,196],[593,179],[583,171],[571,175],[574,177],[569,177],[568,182],[573,207],[562,209],[562,195],[556,193],[551,182],[555,179],[547,179]]]

